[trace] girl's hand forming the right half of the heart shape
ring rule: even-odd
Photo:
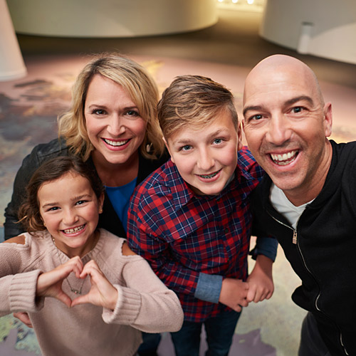
[[[117,302],[117,289],[108,281],[95,261],[91,260],[85,264],[82,273],[80,273],[80,278],[86,276],[90,276],[91,288],[89,293],[75,298],[72,306],[90,303],[114,310]]]

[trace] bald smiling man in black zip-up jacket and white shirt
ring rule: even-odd
[[[277,237],[302,280],[292,295],[308,310],[300,356],[356,355],[356,142],[328,140],[332,123],[305,63],[276,55],[248,74],[244,131],[268,173],[254,224]]]

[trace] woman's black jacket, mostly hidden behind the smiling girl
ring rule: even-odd
[[[23,226],[16,224],[18,221],[17,212],[23,199],[26,195],[26,186],[31,179],[33,172],[48,159],[68,155],[68,147],[66,147],[65,140],[52,140],[51,142],[37,145],[32,152],[23,159],[22,165],[16,174],[14,181],[14,191],[12,193],[11,201],[5,209],[5,239],[17,236],[23,233]],[[159,159],[147,159],[140,155],[139,168],[137,174],[136,185],[140,184],[150,173],[160,167],[167,161],[169,155],[163,155]],[[92,159],[88,159],[88,164],[93,165]],[[105,192],[105,199],[103,205],[103,213],[100,214],[98,227],[110,231],[120,237],[126,237],[126,232],[122,226],[122,222],[117,216],[114,207],[112,206],[108,194]]]

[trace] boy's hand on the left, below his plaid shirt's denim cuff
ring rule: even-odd
[[[219,302],[227,305],[236,312],[241,312],[241,307],[246,307],[248,283],[241,279],[224,278],[221,286]]]

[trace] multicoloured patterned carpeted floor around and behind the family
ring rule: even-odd
[[[216,26],[172,36],[106,40],[19,36],[28,76],[0,83],[0,211],[4,211],[11,198],[14,176],[23,157],[37,143],[56,137],[56,116],[70,103],[70,86],[90,58],[85,53],[109,50],[126,53],[150,70],[160,90],[176,75],[209,76],[233,91],[240,117],[241,93],[248,70],[272,53],[295,55],[315,69],[325,100],[333,103],[333,138],[339,142],[356,139],[352,110],[356,98],[356,66],[300,56],[263,41],[257,36],[261,19],[258,12],[221,11],[220,15]],[[1,214],[0,225],[3,223]],[[290,300],[300,281],[281,250],[273,276],[276,288],[273,297],[245,308],[230,355],[296,355],[305,311]],[[32,330],[11,315],[0,318],[1,340],[0,355],[39,354]],[[201,348],[203,352],[204,345]],[[169,335],[164,335],[159,355],[174,355]]]

